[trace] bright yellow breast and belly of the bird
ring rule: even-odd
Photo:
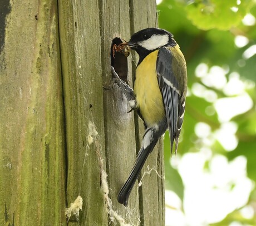
[[[165,117],[162,94],[156,74],[158,51],[150,53],[136,68],[134,93],[137,107],[146,124],[150,127]]]

